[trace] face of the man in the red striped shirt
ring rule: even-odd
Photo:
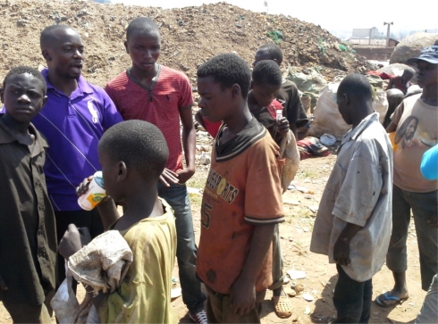
[[[134,30],[125,42],[132,66],[140,71],[151,71],[161,52],[161,36],[158,30],[148,32]]]

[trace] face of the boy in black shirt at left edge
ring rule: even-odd
[[[6,108],[6,114],[20,123],[29,123],[44,104],[46,95],[40,79],[30,73],[13,75],[1,89],[0,96]]]

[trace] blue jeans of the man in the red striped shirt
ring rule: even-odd
[[[191,217],[190,200],[186,185],[171,184],[165,187],[158,182],[158,196],[173,208],[176,225],[176,259],[180,270],[182,301],[189,312],[196,313],[204,309],[206,295],[201,292],[201,283],[196,277],[195,232]]]

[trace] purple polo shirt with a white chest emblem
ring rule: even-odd
[[[47,192],[55,211],[77,211],[76,187],[83,179],[101,170],[97,143],[114,124],[122,121],[105,91],[78,79],[70,97],[47,81],[47,69],[41,71],[47,84],[47,103],[32,120],[47,140]]]

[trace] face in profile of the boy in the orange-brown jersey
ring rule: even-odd
[[[232,88],[223,88],[213,77],[198,78],[198,107],[207,120],[218,122],[232,115]]]

